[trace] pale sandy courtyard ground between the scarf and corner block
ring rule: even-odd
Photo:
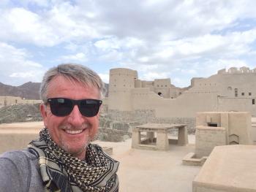
[[[195,151],[195,136],[189,135],[189,145],[171,145],[168,151],[138,150],[126,142],[99,142],[113,147],[113,158],[120,162],[118,177],[121,192],[173,191],[191,192],[192,180],[200,166],[184,166],[182,158]]]

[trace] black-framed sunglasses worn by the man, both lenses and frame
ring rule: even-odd
[[[97,99],[73,100],[67,98],[50,98],[47,101],[50,104],[50,112],[58,117],[69,115],[77,104],[80,113],[83,116],[91,118],[98,114],[99,107],[102,104],[102,101]]]

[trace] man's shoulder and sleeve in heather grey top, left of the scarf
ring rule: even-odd
[[[37,156],[29,150],[0,155],[0,191],[42,191]],[[36,190],[35,190],[36,189]]]

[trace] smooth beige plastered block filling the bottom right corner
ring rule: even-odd
[[[255,158],[255,145],[214,147],[193,180],[193,192],[255,192]]]

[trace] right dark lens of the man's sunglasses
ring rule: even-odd
[[[99,112],[101,102],[94,99],[84,99],[80,101],[79,110],[83,116],[94,117]]]

